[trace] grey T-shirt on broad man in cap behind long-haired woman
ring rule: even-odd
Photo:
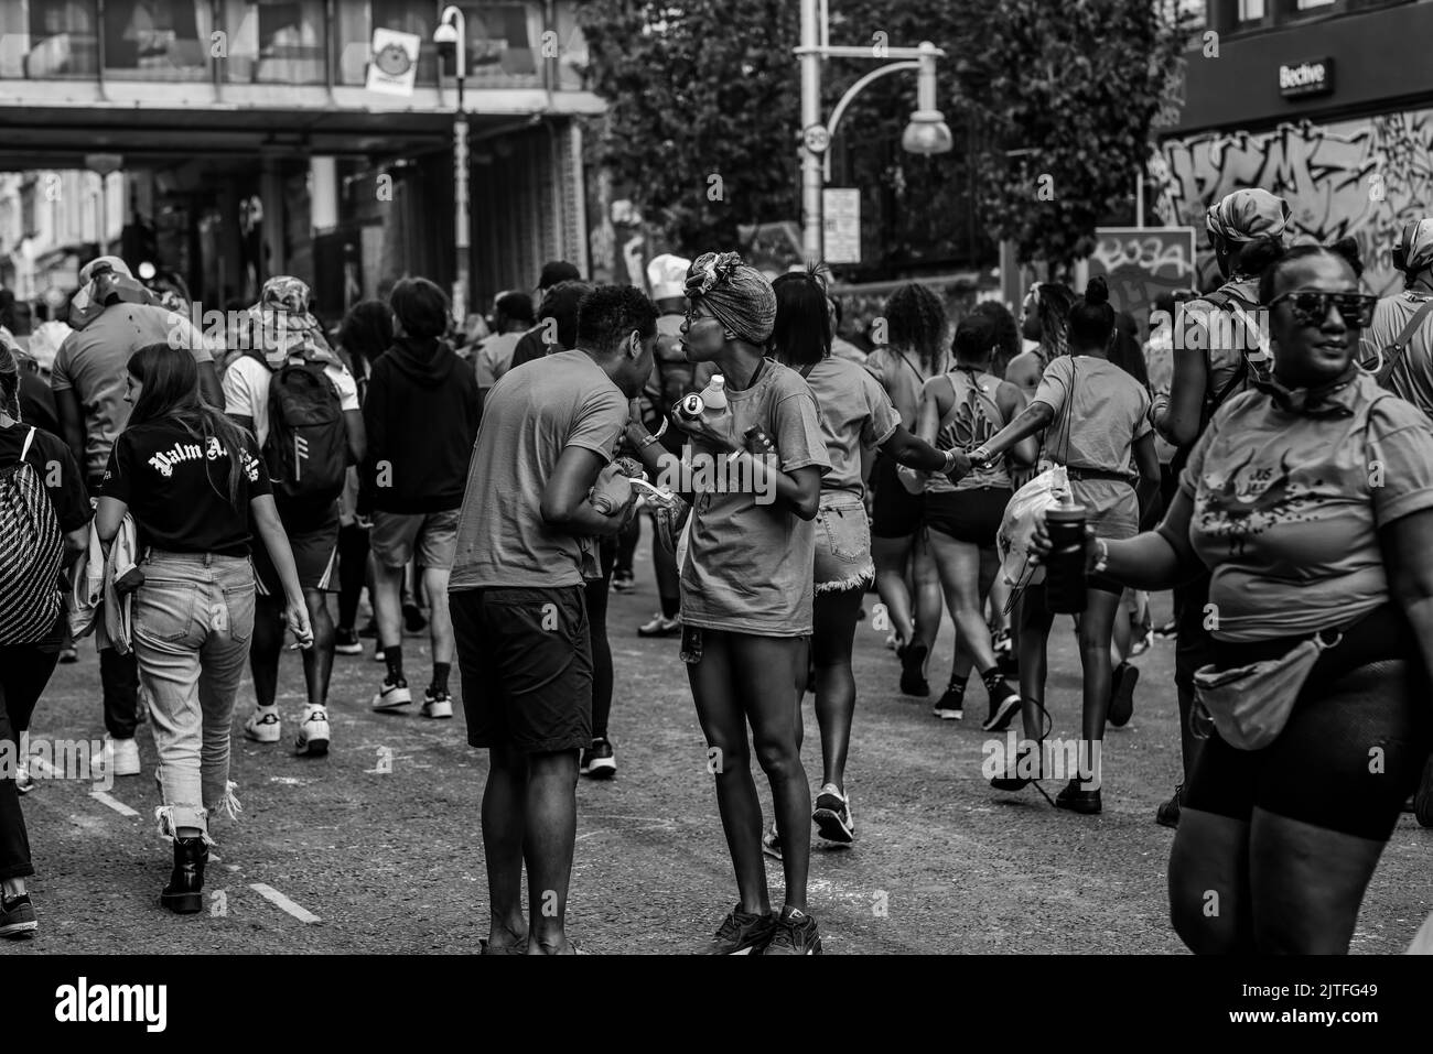
[[[186,349],[195,362],[212,362],[203,337],[183,315],[148,304],[112,304],[83,329],[64,338],[50,371],[52,391],[75,391],[85,410],[85,473],[105,474],[109,451],[129,424],[125,402],[129,357],[150,344]]]

